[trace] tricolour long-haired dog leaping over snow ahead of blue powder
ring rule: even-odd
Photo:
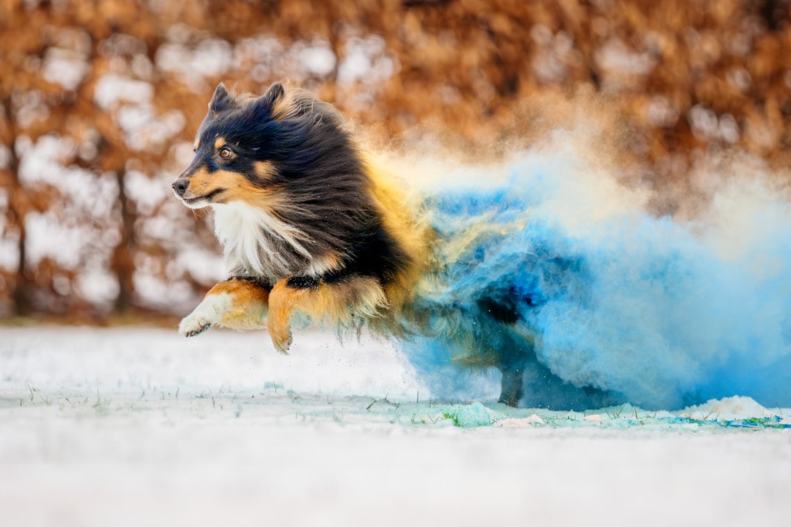
[[[214,209],[230,269],[181,321],[181,334],[266,326],[287,352],[295,315],[339,329],[431,333],[415,300],[418,281],[437,269],[437,236],[398,183],[369,168],[330,104],[280,83],[259,97],[218,85],[195,159],[172,187],[187,207]],[[507,308],[483,307],[513,325]],[[487,352],[487,364],[504,372],[501,401],[516,405],[520,359]]]

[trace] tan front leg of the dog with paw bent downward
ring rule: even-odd
[[[267,329],[272,344],[280,352],[291,341],[291,317],[301,311],[314,322],[352,327],[355,318],[375,318],[387,307],[379,281],[373,277],[349,277],[336,284],[296,289],[286,285],[287,278],[274,284],[269,296]]]

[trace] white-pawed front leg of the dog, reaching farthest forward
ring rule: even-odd
[[[185,337],[212,326],[230,329],[259,329],[266,326],[270,288],[257,280],[233,277],[210,289],[203,301],[179,325]]]

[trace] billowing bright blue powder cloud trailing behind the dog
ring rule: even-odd
[[[433,395],[496,397],[492,350],[519,349],[522,405],[681,408],[734,394],[791,404],[791,221],[767,225],[758,249],[736,258],[636,209],[571,229],[546,206],[573,169],[559,157],[522,162],[501,188],[427,198],[445,243],[471,240],[422,299],[437,337],[405,344]],[[771,206],[791,218],[788,203]],[[482,299],[516,323],[486,316]]]

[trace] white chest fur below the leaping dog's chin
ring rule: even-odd
[[[214,233],[230,269],[274,281],[299,273],[301,269],[295,269],[295,253],[310,265],[312,256],[305,249],[305,234],[299,229],[245,203],[212,205],[212,208]]]

